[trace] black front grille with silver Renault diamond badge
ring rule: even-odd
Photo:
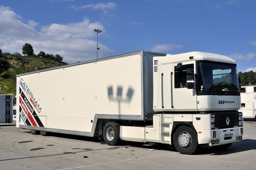
[[[238,112],[215,113],[215,127],[218,129],[238,126]]]

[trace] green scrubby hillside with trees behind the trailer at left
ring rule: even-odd
[[[26,45],[26,44],[25,44]],[[24,45],[24,46],[25,46]],[[24,48],[23,46],[23,48]],[[31,45],[30,45],[31,46]],[[16,75],[26,72],[41,70],[45,68],[53,68],[57,66],[66,65],[62,62],[61,55],[46,54],[40,51],[37,55],[34,53],[33,48],[24,51],[22,48],[21,55],[18,52],[14,54],[0,50],[0,94],[12,94],[16,96]]]

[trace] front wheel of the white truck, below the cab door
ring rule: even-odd
[[[181,154],[193,154],[198,150],[197,134],[191,127],[178,127],[172,140],[175,149]]]

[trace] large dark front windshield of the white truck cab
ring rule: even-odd
[[[239,95],[236,65],[200,61],[198,75],[199,95]]]

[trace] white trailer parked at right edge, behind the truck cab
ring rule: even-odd
[[[243,119],[256,120],[256,85],[241,86],[240,92]]]

